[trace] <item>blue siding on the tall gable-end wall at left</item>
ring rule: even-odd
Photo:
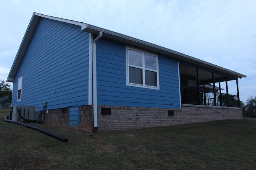
[[[89,33],[77,25],[40,19],[14,78],[12,106],[42,110],[43,102],[47,109],[87,105],[88,59]]]

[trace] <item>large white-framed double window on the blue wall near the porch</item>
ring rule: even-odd
[[[159,90],[158,55],[126,47],[126,85]]]

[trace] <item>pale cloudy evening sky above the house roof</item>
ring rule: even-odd
[[[256,96],[255,0],[0,0],[0,80],[6,80],[34,12],[160,45],[247,77]],[[12,85],[12,83],[9,83]],[[224,87],[224,86],[222,86]],[[236,95],[236,82],[228,82]]]

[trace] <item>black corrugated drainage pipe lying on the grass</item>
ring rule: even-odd
[[[46,131],[46,130],[41,129],[41,128],[39,128],[39,127],[35,127],[35,126],[32,126],[32,125],[28,125],[28,124],[25,124],[25,123],[21,123],[21,122],[19,122],[19,121],[8,120],[7,118],[9,118],[9,117],[10,117],[10,116],[4,117],[4,121],[9,122],[9,123],[16,123],[16,124],[18,124],[18,125],[26,126],[26,127],[28,127],[28,128],[31,128],[31,129],[40,131],[40,132],[42,132],[42,133],[45,133],[45,134],[49,135],[50,137],[54,137],[55,139],[58,139],[58,140],[63,141],[63,142],[67,142],[67,141],[68,141],[68,139],[66,139],[65,137],[59,136],[59,135],[57,135],[57,134],[55,134],[55,133],[52,133],[52,132],[50,132],[50,131]]]

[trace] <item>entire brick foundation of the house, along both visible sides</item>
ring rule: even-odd
[[[111,108],[111,115],[102,115],[101,108]],[[206,122],[224,119],[242,119],[242,108],[182,105],[181,109],[147,107],[98,106],[98,131],[141,129],[143,127],[170,126],[184,123]],[[174,115],[168,115],[168,110]],[[49,110],[45,124],[68,126],[68,108]],[[79,106],[77,129],[93,131],[93,106]]]

